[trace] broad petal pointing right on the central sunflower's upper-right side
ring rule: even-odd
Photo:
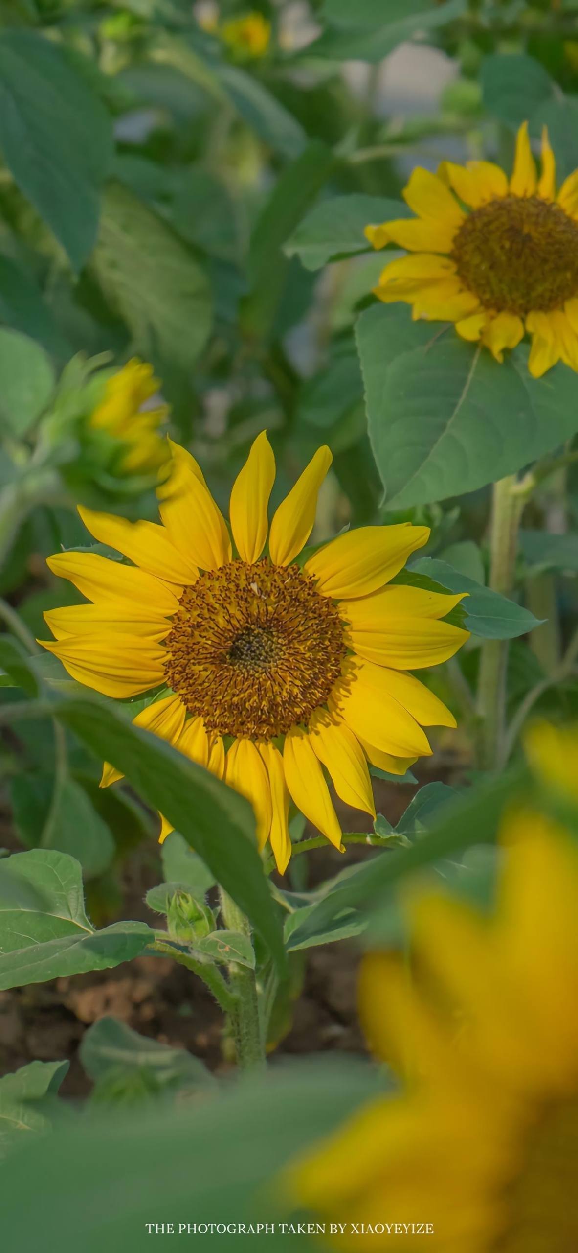
[[[360,526],[325,544],[305,561],[324,596],[367,596],[399,573],[408,556],[429,539],[429,526],[399,523]]]

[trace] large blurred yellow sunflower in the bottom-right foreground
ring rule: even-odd
[[[290,1177],[299,1205],[348,1224],[339,1248],[389,1247],[367,1233],[383,1222],[433,1224],[439,1253],[578,1248],[578,846],[529,813],[505,837],[493,920],[418,897],[415,982],[402,959],[362,967],[369,1044],[404,1091]]]

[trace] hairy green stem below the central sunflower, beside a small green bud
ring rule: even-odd
[[[251,933],[249,920],[224,888],[219,888],[223,921],[229,931]],[[265,1064],[265,1051],[259,1017],[255,971],[241,966],[238,961],[229,962],[229,987],[235,996],[234,1009],[229,1011],[229,1026],[235,1042],[238,1065],[243,1070],[256,1069]]]

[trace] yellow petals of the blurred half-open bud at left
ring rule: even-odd
[[[166,421],[168,406],[146,408],[159,387],[153,366],[134,357],[108,378],[104,396],[90,413],[94,431],[104,431],[124,445],[119,466],[124,474],[146,475],[168,465],[168,445],[159,430]]]

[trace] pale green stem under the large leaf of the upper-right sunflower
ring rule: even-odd
[[[508,596],[514,584],[518,526],[524,497],[515,491],[515,475],[494,484],[490,534],[490,575],[493,591]],[[480,764],[498,769],[503,762],[505,725],[505,679],[508,672],[508,640],[487,639],[482,644],[478,685],[480,728]]]

